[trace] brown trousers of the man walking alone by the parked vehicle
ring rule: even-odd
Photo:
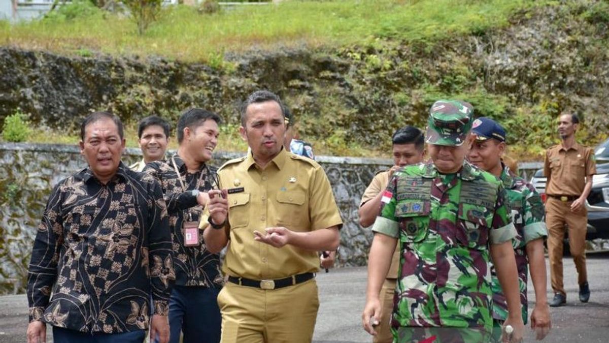
[[[552,289],[555,293],[566,296],[563,285],[563,240],[565,239],[565,224],[569,229],[569,250],[577,269],[577,282],[588,281],[586,273],[586,224],[588,211],[571,212],[572,201],[547,197],[546,226],[547,252],[550,259],[550,275]]]

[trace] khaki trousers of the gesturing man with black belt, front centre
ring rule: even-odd
[[[227,283],[218,294],[222,343],[310,343],[319,298],[315,279],[264,290]]]

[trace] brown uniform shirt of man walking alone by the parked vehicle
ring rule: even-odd
[[[586,176],[596,174],[596,160],[592,148],[575,143],[569,150],[562,144],[546,150],[543,165],[547,177],[546,194],[582,195]]]

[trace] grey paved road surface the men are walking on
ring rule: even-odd
[[[609,253],[588,255],[591,298],[577,300],[577,275],[570,258],[564,259],[567,305],[551,308],[553,328],[544,342],[609,342]],[[315,327],[315,343],[370,342],[361,328],[366,271],[344,268],[317,276],[321,306]],[[548,280],[549,283],[549,280]],[[529,285],[529,289],[532,287]],[[531,300],[535,299],[529,292]],[[27,300],[24,295],[0,297],[0,342],[24,342]],[[525,342],[534,338],[527,330]],[[48,339],[48,342],[52,342]]]

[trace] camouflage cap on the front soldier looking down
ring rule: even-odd
[[[438,100],[429,109],[425,142],[459,146],[471,130],[474,107],[461,100]]]

